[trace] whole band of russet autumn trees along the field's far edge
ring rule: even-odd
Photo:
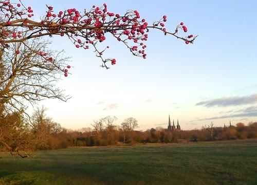
[[[74,146],[106,146],[135,143],[176,143],[257,138],[257,122],[248,125],[215,127],[211,124],[200,130],[170,132],[162,127],[136,131],[138,122],[127,118],[115,124],[116,117],[94,120],[93,128],[66,130],[45,116],[45,109],[37,109],[30,124],[18,113],[0,116],[0,151],[27,157],[30,151],[63,149]],[[23,154],[21,154],[21,151]],[[24,155],[24,152],[26,155]]]

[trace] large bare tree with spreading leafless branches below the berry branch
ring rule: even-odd
[[[11,43],[8,52],[2,53],[0,60],[2,113],[25,110],[28,104],[33,105],[43,99],[62,101],[69,99],[63,90],[56,86],[63,74],[62,69],[67,66],[65,63],[68,58],[63,57],[63,52],[47,49],[48,44],[40,39],[26,43]],[[20,51],[19,54],[16,53],[17,49]]]

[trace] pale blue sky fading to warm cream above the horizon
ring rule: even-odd
[[[25,1],[24,1],[25,2]],[[257,2],[256,1],[32,1],[35,20],[45,4],[56,12],[80,11],[107,4],[108,11],[123,14],[137,10],[151,24],[167,15],[173,31],[181,21],[188,33],[199,35],[186,45],[174,36],[150,30],[147,59],[134,57],[112,35],[99,47],[109,46],[104,57],[115,58],[106,70],[93,50],[77,49],[68,39],[49,39],[52,49],[71,57],[71,74],[57,85],[72,98],[45,100],[47,115],[66,128],[88,127],[95,119],[116,116],[138,120],[138,130],[167,127],[168,117],[179,120],[182,130],[257,119]],[[181,35],[188,35],[180,32]],[[31,111],[32,107],[29,108]]]

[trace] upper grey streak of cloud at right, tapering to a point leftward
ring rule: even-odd
[[[243,96],[243,97],[223,97],[223,98],[216,98],[207,101],[201,101],[196,103],[195,105],[202,105],[205,107],[213,107],[213,106],[235,106],[235,105],[246,105],[246,104],[253,104],[257,102],[257,94],[253,94],[250,96]]]

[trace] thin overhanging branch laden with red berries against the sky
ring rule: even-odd
[[[158,29],[164,35],[173,35],[186,44],[193,44],[197,36],[189,34],[180,36],[179,30],[188,32],[184,23],[176,26],[174,32],[165,28],[167,16],[154,22],[152,26],[136,10],[128,10],[124,15],[107,11],[107,5],[101,7],[93,6],[89,11],[82,11],[75,8],[55,12],[52,6],[48,6],[46,14],[39,22],[31,20],[34,16],[33,9],[20,3],[11,3],[11,0],[0,1],[0,43],[1,49],[8,49],[9,43],[24,42],[29,39],[43,36],[67,36],[77,48],[89,49],[93,47],[97,57],[101,58],[102,67],[107,63],[116,64],[115,59],[104,59],[103,51],[97,49],[99,43],[106,40],[107,33],[113,35],[117,41],[122,42],[137,57],[146,58],[146,45],[148,40],[147,32],[150,29]],[[24,34],[26,33],[26,34]],[[108,47],[106,47],[108,48]]]

